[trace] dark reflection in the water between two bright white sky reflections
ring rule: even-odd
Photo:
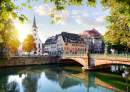
[[[23,79],[24,92],[36,92],[38,88],[38,80],[41,73],[27,74],[27,77]]]

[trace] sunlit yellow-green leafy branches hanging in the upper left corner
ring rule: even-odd
[[[28,20],[28,18],[21,14],[20,11],[23,10],[23,7],[28,6],[29,9],[32,9],[32,7],[28,4],[30,0],[27,0],[27,2],[22,3],[22,6],[16,6],[14,5],[14,1],[16,0],[0,0],[0,31],[2,31],[2,28],[4,28],[4,22],[8,21],[9,17],[11,16],[13,19],[19,18],[19,20],[23,23],[25,20]],[[35,0],[37,1],[37,0]],[[0,34],[0,43],[3,42],[2,35]]]

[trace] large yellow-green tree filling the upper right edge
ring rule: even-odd
[[[120,0],[119,0],[120,1]],[[103,7],[110,8],[110,15],[106,17],[110,25],[104,38],[112,45],[124,45],[127,50],[130,48],[130,1],[115,2],[107,0],[102,3]]]

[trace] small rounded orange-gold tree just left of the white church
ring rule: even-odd
[[[31,34],[27,35],[27,38],[24,39],[22,43],[22,51],[28,52],[28,55],[30,55],[31,51],[36,51],[36,43],[34,42],[35,38]]]

